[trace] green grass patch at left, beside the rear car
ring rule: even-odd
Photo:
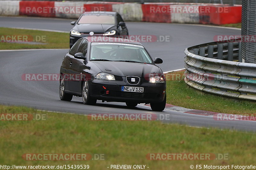
[[[18,36],[20,36],[21,41],[31,41],[32,43],[36,42],[40,44],[6,42],[11,40],[10,37],[6,36],[11,36],[15,38],[16,41],[18,41]],[[40,48],[69,48],[69,34],[0,27],[0,49]]]

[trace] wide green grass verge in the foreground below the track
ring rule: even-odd
[[[85,106],[86,107],[86,106]],[[83,115],[0,105],[0,113],[46,114],[46,120],[0,121],[1,165],[80,165],[102,170],[111,164],[146,169],[190,169],[190,165],[253,164],[255,134],[193,128],[156,121],[89,121]],[[28,161],[25,153],[105,154],[105,160]],[[228,160],[148,160],[147,153],[228,153]]]

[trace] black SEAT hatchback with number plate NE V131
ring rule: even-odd
[[[166,103],[163,71],[137,41],[113,37],[84,37],[76,41],[60,67],[60,99],[73,95],[84,104],[97,100],[125,102],[128,107],[150,103],[162,111]]]

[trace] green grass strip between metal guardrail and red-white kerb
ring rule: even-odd
[[[184,71],[175,73],[183,74]],[[236,100],[201,92],[186,85],[184,80],[169,80],[166,85],[166,102],[172,105],[228,114],[256,113],[256,104],[252,101]]]

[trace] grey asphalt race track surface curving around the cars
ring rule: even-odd
[[[0,27],[37,28],[69,31],[69,19],[7,18],[0,17]],[[127,22],[130,35],[167,35],[170,42],[146,42],[143,45],[152,56],[161,57],[163,71],[184,68],[186,47],[213,41],[215,35],[239,35],[240,30],[206,26]],[[96,106],[83,105],[82,99],[73,97],[71,102],[59,99],[58,81],[23,81],[22,74],[58,74],[64,50],[1,51],[0,52],[0,104],[22,105],[40,110],[76,114],[122,113],[166,114],[170,119],[163,122],[180,123],[196,127],[217,127],[256,131],[252,121],[216,121],[209,116],[192,115],[175,111],[153,112],[150,107],[138,105],[133,109],[124,103],[97,101]]]

